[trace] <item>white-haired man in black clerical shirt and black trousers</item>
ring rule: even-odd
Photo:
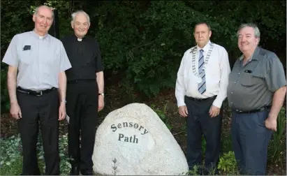
[[[72,65],[66,71],[71,175],[93,175],[91,156],[94,152],[96,120],[98,111],[104,106],[103,64],[98,42],[86,36],[90,26],[89,15],[82,10],[73,13],[71,26],[74,34],[61,39]]]

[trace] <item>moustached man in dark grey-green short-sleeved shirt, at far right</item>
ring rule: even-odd
[[[240,174],[265,175],[268,142],[286,95],[284,68],[274,52],[258,47],[256,24],[242,24],[237,38],[242,57],[233,66],[227,91],[233,149]]]

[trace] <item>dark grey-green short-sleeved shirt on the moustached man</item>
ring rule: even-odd
[[[285,85],[284,68],[277,55],[256,47],[244,66],[243,56],[235,61],[228,81],[228,104],[242,111],[272,105],[274,92]]]

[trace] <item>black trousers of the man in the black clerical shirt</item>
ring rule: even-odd
[[[96,120],[98,116],[98,85],[94,82],[67,85],[68,153],[72,165],[92,170]],[[80,138],[81,136],[81,138]]]

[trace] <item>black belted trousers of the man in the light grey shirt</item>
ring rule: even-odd
[[[22,119],[17,120],[20,131],[23,168],[22,175],[40,175],[36,143],[39,122],[45,152],[45,175],[59,175],[59,93],[57,89],[32,96],[17,91]]]

